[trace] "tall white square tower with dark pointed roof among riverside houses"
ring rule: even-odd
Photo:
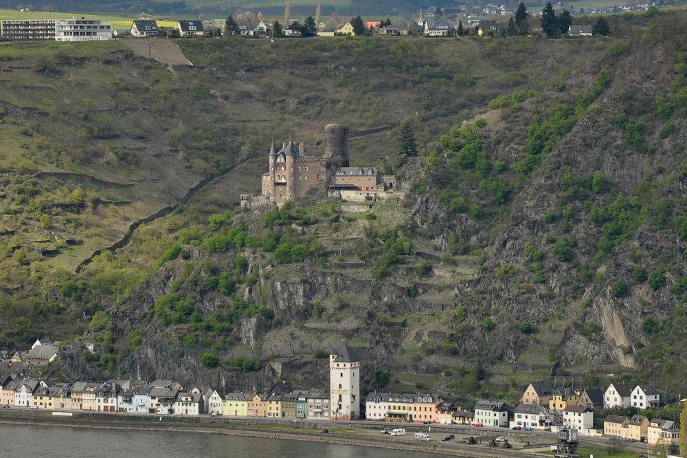
[[[360,361],[347,344],[329,356],[329,393],[331,419],[360,418]]]

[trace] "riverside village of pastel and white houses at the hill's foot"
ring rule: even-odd
[[[56,358],[58,342],[36,340],[27,352],[4,355],[0,368],[44,366]],[[30,363],[28,363],[31,361]],[[670,391],[655,386],[612,382],[598,388],[553,387],[534,381],[519,404],[478,400],[472,410],[433,393],[368,393],[361,398],[361,360],[347,344],[329,355],[327,389],[294,389],[276,382],[264,393],[211,386],[183,386],[174,380],[63,383],[43,378],[0,374],[1,408],[43,411],[95,411],[155,415],[212,415],[267,419],[318,419],[388,422],[390,424],[463,425],[529,432],[576,430],[578,437],[642,441],[668,450],[677,446],[679,424],[651,415],[673,404]],[[684,400],[679,400],[684,402]],[[422,440],[431,439],[429,436]]]

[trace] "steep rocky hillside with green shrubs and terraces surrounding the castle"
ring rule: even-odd
[[[681,386],[687,37],[682,17],[651,20],[618,40],[183,41],[196,67],[173,69],[118,45],[5,48],[3,338],[68,338],[48,369],[66,378],[316,385],[346,340],[367,389],[473,397],[550,373]],[[81,60],[54,74],[63,55]],[[23,81],[53,96],[90,81],[116,102],[109,118],[30,109]],[[401,120],[419,157],[396,154]],[[325,122],[350,123],[352,162],[392,169],[405,202],[234,208],[273,136],[318,154]]]

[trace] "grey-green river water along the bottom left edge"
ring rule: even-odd
[[[0,457],[412,458],[416,452],[202,433],[171,433],[0,424]],[[436,455],[432,455],[436,456]]]

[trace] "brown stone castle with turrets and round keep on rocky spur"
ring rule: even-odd
[[[241,208],[256,204],[283,206],[304,197],[335,196],[355,201],[374,200],[379,193],[394,188],[396,177],[382,175],[375,167],[350,167],[346,124],[324,127],[324,155],[308,156],[304,146],[282,143],[277,151],[274,140],[269,151],[269,171],[261,178],[260,196],[241,195]]]

